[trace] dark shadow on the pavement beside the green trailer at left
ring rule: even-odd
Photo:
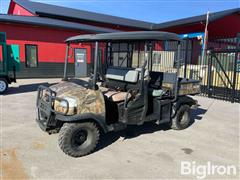
[[[9,87],[7,92],[4,94],[5,95],[11,95],[11,94],[21,94],[21,93],[27,93],[27,92],[34,92],[37,91],[38,87],[40,85],[43,86],[51,86],[54,85],[56,83],[36,83],[36,84],[26,84],[26,85],[20,85],[18,87]]]

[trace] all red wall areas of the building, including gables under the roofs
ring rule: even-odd
[[[8,14],[14,15],[25,15],[25,16],[36,16],[28,12],[23,7],[19,6],[15,2],[11,1],[9,6]],[[106,24],[99,22],[89,22],[83,20],[73,20],[71,18],[63,19],[65,21],[76,22],[94,25],[98,27],[106,27],[111,29],[117,29],[121,31],[136,31],[141,30],[140,28],[132,28],[125,26],[118,26],[114,24]],[[181,25],[176,27],[170,27],[165,29],[159,29],[161,31],[174,32],[177,34],[193,33],[193,32],[203,32],[204,24],[201,22],[195,24]],[[240,32],[240,14],[232,14],[210,22],[209,27],[209,39],[215,37],[236,37],[236,34]],[[18,44],[20,45],[20,60],[25,62],[25,45],[26,44],[36,44],[38,46],[38,61],[40,63],[63,63],[65,58],[66,44],[64,40],[70,36],[75,36],[79,34],[89,34],[89,32],[84,31],[71,31],[66,29],[53,29],[48,27],[37,27],[29,25],[16,25],[16,24],[1,24],[0,31],[6,32],[7,43],[8,44]],[[74,48],[86,48],[87,49],[87,63],[91,63],[91,50],[93,45],[91,44],[78,44],[72,45],[69,52],[69,62],[74,63]],[[163,44],[156,44],[155,48],[161,50]],[[201,46],[198,42],[193,42],[194,49],[192,54],[192,61],[196,62],[199,54],[201,53]],[[104,53],[103,57],[104,59]]]

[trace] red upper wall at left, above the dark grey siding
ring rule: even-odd
[[[20,46],[20,60],[22,62],[25,61],[26,44],[38,46],[39,62],[64,62],[66,50],[64,41],[70,36],[89,33],[16,24],[0,24],[0,32],[6,32],[8,44]],[[87,49],[87,62],[90,63],[90,45],[73,46],[73,48],[76,47]],[[70,56],[69,62],[74,62],[73,56]]]

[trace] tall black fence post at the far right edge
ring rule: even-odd
[[[235,102],[235,98],[236,98],[237,60],[238,60],[239,52],[240,52],[240,34],[237,35],[237,45],[236,45],[235,60],[234,60],[233,88],[232,88],[232,99],[231,99],[232,103]]]

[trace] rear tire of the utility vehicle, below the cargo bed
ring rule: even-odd
[[[191,124],[190,106],[181,105],[172,119],[171,128],[174,130],[186,129]]]

